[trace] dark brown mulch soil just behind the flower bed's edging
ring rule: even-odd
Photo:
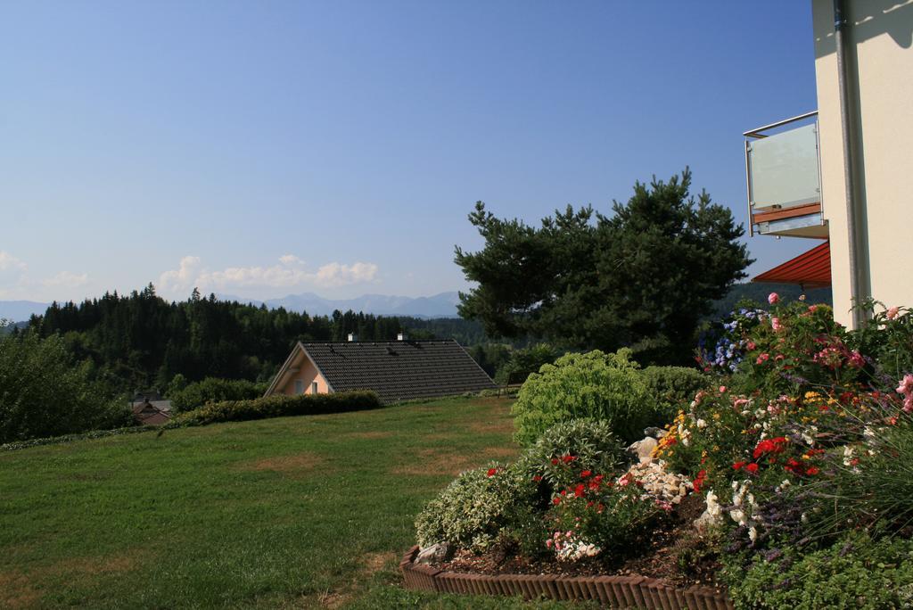
[[[515,550],[496,547],[482,554],[460,551],[443,563],[440,570],[480,574],[556,574],[561,576],[628,576],[662,578],[670,584],[720,586],[716,574],[720,564],[707,542],[694,529],[694,521],[704,511],[699,494],[687,496],[677,506],[673,519],[664,529],[652,531],[643,542],[643,551],[624,558],[594,557],[576,563],[530,560]],[[686,556],[687,568],[679,567]],[[614,561],[613,561],[614,559]]]

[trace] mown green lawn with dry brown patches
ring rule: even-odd
[[[396,568],[511,431],[508,401],[457,398],[2,453],[0,607],[504,607]]]

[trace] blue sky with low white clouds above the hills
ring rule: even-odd
[[[740,133],[816,105],[797,0],[4,3],[0,57],[0,300],[465,289],[477,200],[690,165],[745,222]]]

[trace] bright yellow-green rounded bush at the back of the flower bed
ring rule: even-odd
[[[642,437],[645,426],[662,425],[630,355],[627,349],[569,353],[530,374],[512,409],[517,442],[529,447],[551,426],[575,418],[603,420],[625,442]]]

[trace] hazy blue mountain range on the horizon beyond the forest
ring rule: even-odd
[[[312,292],[289,294],[281,299],[243,299],[229,294],[215,295],[220,300],[236,300],[270,309],[307,311],[310,315],[328,316],[333,310],[364,311],[384,316],[413,316],[415,318],[456,318],[459,293],[441,292],[431,297],[395,297],[383,294],[364,294],[355,299],[324,299]],[[42,314],[50,303],[33,300],[0,300],[0,319],[26,321],[34,314]]]

